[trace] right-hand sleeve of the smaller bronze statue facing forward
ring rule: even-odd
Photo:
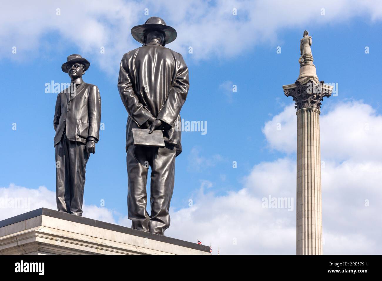
[[[87,101],[87,114],[89,116],[88,139],[99,141],[99,127],[101,124],[101,96],[97,86],[92,86]],[[91,138],[92,137],[92,138]]]

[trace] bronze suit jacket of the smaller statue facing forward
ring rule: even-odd
[[[60,142],[64,130],[68,140],[85,144],[87,139],[99,140],[101,97],[98,87],[82,81],[77,85],[76,93],[70,98],[70,89],[65,89],[57,95],[54,145]]]

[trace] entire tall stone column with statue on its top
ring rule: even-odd
[[[312,37],[304,31],[300,43],[300,75],[284,85],[297,109],[297,255],[322,254],[320,107],[332,86],[318,80],[311,52]]]

